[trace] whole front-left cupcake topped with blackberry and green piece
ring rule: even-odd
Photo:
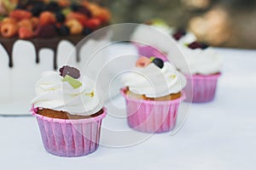
[[[70,66],[60,71],[45,71],[36,83],[32,115],[50,154],[85,156],[98,148],[107,110],[89,77],[80,77],[79,70]]]

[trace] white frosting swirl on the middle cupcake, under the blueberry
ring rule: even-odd
[[[121,81],[135,94],[145,94],[148,98],[163,97],[168,94],[177,94],[186,85],[186,78],[176,71],[169,62],[160,69],[154,64],[145,68],[136,67],[126,72]]]

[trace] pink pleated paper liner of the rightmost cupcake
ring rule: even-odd
[[[193,103],[210,102],[216,94],[218,77],[221,73],[214,75],[185,75],[187,85],[184,88],[187,98],[185,101]]]

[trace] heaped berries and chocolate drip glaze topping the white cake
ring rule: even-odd
[[[11,5],[10,5],[11,4]],[[62,40],[77,46],[91,32],[108,26],[110,14],[107,8],[96,3],[68,0],[22,0],[3,1],[0,21],[0,42],[9,56],[9,67],[13,67],[13,48],[18,40],[32,42],[35,62],[39,63],[39,51],[50,48],[54,51],[53,68],[57,69],[57,48]],[[82,44],[81,44],[82,45]],[[81,45],[76,47],[78,52]]]

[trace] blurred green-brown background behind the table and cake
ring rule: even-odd
[[[0,3],[6,1],[14,3],[19,0],[0,0]],[[256,0],[88,1],[109,8],[112,13],[112,24],[144,23],[148,20],[162,19],[169,26],[194,32],[199,41],[212,46],[256,48]]]

